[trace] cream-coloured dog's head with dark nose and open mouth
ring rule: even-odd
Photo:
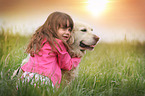
[[[99,37],[92,33],[93,29],[84,23],[75,23],[72,35],[68,43],[72,46],[74,52],[85,50],[93,50]]]

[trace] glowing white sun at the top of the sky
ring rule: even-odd
[[[97,16],[105,10],[108,2],[108,0],[88,0],[87,9],[93,15]]]

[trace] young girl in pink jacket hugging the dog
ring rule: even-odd
[[[71,70],[80,63],[80,58],[71,58],[66,41],[71,36],[73,20],[62,12],[51,13],[46,22],[36,30],[26,49],[30,59],[21,69],[21,78],[52,81],[58,87],[61,83],[61,69]]]

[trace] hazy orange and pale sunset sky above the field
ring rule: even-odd
[[[0,24],[31,33],[54,11],[90,24],[102,41],[145,41],[145,0],[0,0]]]

